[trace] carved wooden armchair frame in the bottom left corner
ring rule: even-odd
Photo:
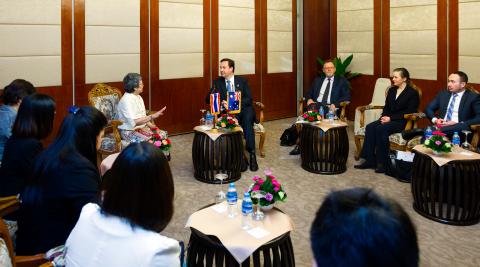
[[[1,244],[3,241],[8,250],[8,256],[13,267],[30,267],[30,266],[53,266],[45,259],[44,254],[32,256],[16,256],[13,250],[13,242],[8,231],[8,227],[3,221],[3,216],[16,211],[20,207],[20,201],[16,196],[0,198],[0,252],[2,252]],[[1,262],[0,262],[1,263]],[[8,266],[8,265],[7,265]]]

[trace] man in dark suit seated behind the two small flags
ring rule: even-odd
[[[207,94],[205,102],[210,103],[210,93],[220,93],[222,105],[226,107],[227,92],[240,91],[242,93],[241,112],[237,114],[238,122],[242,126],[245,136],[246,149],[250,153],[250,170],[258,170],[257,157],[255,156],[255,133],[253,122],[255,121],[255,110],[252,106],[252,94],[247,79],[235,76],[235,61],[224,58],[220,60],[220,77],[213,81],[213,88]]]

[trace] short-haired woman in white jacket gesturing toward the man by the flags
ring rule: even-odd
[[[150,139],[152,130],[158,129],[154,120],[161,115],[167,107],[163,107],[151,115],[147,115],[145,104],[140,94],[143,92],[142,76],[138,73],[128,73],[123,78],[125,94],[118,103],[118,119],[123,122],[118,128],[122,139],[130,142],[142,142]],[[166,138],[166,132],[160,131]]]

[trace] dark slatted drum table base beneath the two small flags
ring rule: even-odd
[[[194,176],[197,180],[218,184],[215,174],[226,173],[223,183],[234,182],[241,177],[243,160],[243,133],[226,132],[213,141],[207,134],[195,130],[192,145]]]

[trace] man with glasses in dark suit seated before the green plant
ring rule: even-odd
[[[326,107],[336,108],[343,101],[350,101],[350,89],[345,77],[335,76],[335,65],[333,61],[327,60],[323,63],[323,73],[325,76],[317,77],[313,80],[310,90],[305,94],[307,106],[315,105],[315,109],[324,109]],[[300,146],[297,144],[290,152],[290,155],[300,154]]]

